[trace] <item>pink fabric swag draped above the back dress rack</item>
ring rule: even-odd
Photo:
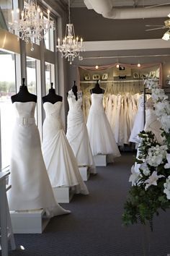
[[[123,67],[130,67],[131,69],[145,69],[147,67],[155,67],[158,66],[159,68],[159,85],[162,86],[162,64],[161,63],[152,63],[152,64],[141,64],[140,67],[136,67],[136,64],[124,64],[124,63],[114,63],[114,64],[109,64],[105,66],[99,66],[98,69],[96,69],[94,66],[79,66],[77,70],[77,75],[78,75],[78,86],[80,88],[80,74],[79,74],[79,69],[84,69],[84,70],[104,70],[104,69],[109,69],[111,67],[115,67],[117,64]],[[107,82],[107,81],[106,81]]]

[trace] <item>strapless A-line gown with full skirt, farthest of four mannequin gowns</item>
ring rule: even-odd
[[[91,94],[91,108],[87,120],[87,129],[93,155],[120,156],[114,134],[102,105],[103,94]]]

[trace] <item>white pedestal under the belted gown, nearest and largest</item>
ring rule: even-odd
[[[45,210],[10,211],[12,229],[15,234],[41,234],[50,218]]]

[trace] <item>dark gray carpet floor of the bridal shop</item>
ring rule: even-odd
[[[76,195],[67,216],[52,218],[43,234],[16,234],[11,256],[167,256],[170,254],[170,211],[153,220],[153,232],[140,224],[122,226],[123,204],[135,155],[122,153],[115,163],[97,167],[86,182],[90,195]]]

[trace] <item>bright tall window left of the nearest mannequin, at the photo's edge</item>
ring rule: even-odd
[[[0,51],[1,168],[10,164],[14,110],[11,96],[16,93],[15,55]]]

